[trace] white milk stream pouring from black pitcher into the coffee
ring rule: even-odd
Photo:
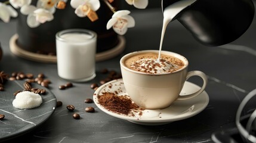
[[[168,7],[165,8],[163,11],[164,13],[164,21],[163,21],[163,27],[162,27],[162,35],[161,35],[161,41],[160,41],[160,47],[159,47],[159,54],[158,54],[158,61],[160,61],[161,58],[161,51],[162,51],[162,45],[164,41],[164,35],[165,35],[165,30],[169,22],[172,21],[172,19],[180,13],[184,8],[188,7],[189,5],[192,5],[194,2],[197,0],[182,0],[175,2],[172,5],[169,5]]]

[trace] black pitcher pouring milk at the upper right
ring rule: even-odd
[[[179,0],[162,0],[163,10]],[[238,39],[252,23],[251,0],[198,0],[174,17],[193,37],[207,46],[220,46]]]

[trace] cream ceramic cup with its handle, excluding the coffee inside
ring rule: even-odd
[[[185,57],[174,52],[162,51],[161,54],[171,55],[184,62],[184,67],[172,73],[147,74],[140,71],[131,70],[125,66],[124,61],[136,54],[145,52],[155,52],[156,50],[131,52],[121,58],[121,73],[124,80],[125,89],[139,107],[146,109],[161,109],[169,107],[175,100],[188,100],[201,94],[208,82],[206,75],[202,71],[189,71],[189,62]],[[199,91],[190,95],[180,95],[181,89],[187,79],[191,76],[199,76],[203,79],[203,85]]]

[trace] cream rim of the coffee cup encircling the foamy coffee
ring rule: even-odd
[[[172,74],[172,73],[177,73],[177,72],[180,72],[184,69],[187,68],[187,66],[189,66],[189,61],[187,60],[187,58],[185,58],[183,55],[180,55],[180,54],[177,54],[175,52],[170,52],[170,51],[161,51],[161,54],[165,54],[165,53],[171,53],[173,57],[176,57],[180,60],[182,60],[184,62],[184,67],[179,69],[179,70],[176,70],[176,71],[173,71],[171,73],[156,73],[156,74],[148,74],[148,73],[144,73],[144,72],[140,72],[140,71],[135,71],[135,70],[132,70],[132,69],[129,69],[128,67],[125,66],[124,64],[124,61],[125,59],[127,59],[128,57],[131,57],[132,55],[136,55],[136,54],[141,54],[141,53],[145,53],[145,52],[159,52],[159,50],[142,50],[142,51],[135,51],[135,52],[130,52],[126,55],[124,55],[121,60],[120,60],[120,65],[121,67],[123,67],[125,70],[128,70],[128,71],[131,71],[133,73],[138,73],[138,74],[146,74],[146,75],[150,75],[150,76],[159,76],[159,75],[164,75],[164,74]]]

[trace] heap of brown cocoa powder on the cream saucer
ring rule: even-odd
[[[111,92],[105,92],[98,95],[98,102],[107,110],[115,113],[128,115],[131,110],[138,110],[138,105],[131,101],[126,95],[118,96]]]

